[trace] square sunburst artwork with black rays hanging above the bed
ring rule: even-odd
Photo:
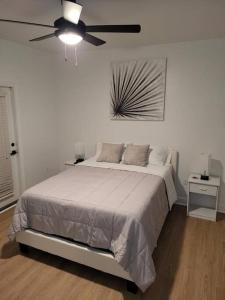
[[[111,118],[163,121],[166,58],[113,62]]]

